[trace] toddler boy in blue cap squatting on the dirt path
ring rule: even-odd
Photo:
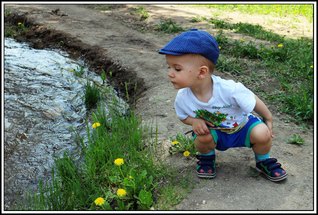
[[[213,75],[219,56],[217,41],[205,31],[191,29],[173,38],[159,52],[169,65],[169,80],[178,89],[175,109],[191,125],[198,177],[213,178],[215,150],[252,148],[256,170],[272,181],[287,177],[277,159],[269,158],[273,117],[265,104],[241,83]],[[250,114],[254,110],[262,117]],[[215,130],[213,127],[234,128]]]

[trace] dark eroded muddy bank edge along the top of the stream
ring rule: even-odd
[[[53,14],[53,13],[52,13]],[[5,16],[6,26],[12,26],[24,20],[25,26],[31,26],[29,30],[14,36],[17,41],[27,42],[35,49],[61,49],[67,51],[74,58],[84,60],[90,70],[100,75],[105,71],[107,80],[119,92],[122,98],[127,99],[126,85],[129,103],[142,97],[146,90],[144,79],[137,77],[131,69],[124,68],[120,62],[108,57],[105,50],[94,45],[83,43],[80,39],[73,37],[65,31],[58,31],[47,25],[37,24],[34,19],[28,18],[28,13],[11,13]],[[35,25],[36,24],[36,25]],[[110,75],[111,73],[111,75]],[[138,87],[135,87],[137,85]]]

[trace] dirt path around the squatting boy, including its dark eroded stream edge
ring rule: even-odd
[[[171,19],[182,27],[190,29],[207,30],[204,22],[192,23],[191,17],[212,17],[211,10],[198,10],[178,5],[142,5],[149,17],[145,20],[145,30],[150,25],[158,24],[162,20]],[[185,133],[191,128],[178,120],[174,110],[174,100],[177,90],[174,89],[167,77],[167,64],[165,57],[159,51],[170,39],[180,34],[153,34],[141,33],[134,30],[140,27],[140,16],[132,15],[131,7],[139,5],[120,5],[114,10],[93,10],[89,5],[83,4],[14,4],[5,5],[5,11],[11,9],[16,22],[23,22],[32,27],[32,31],[25,33],[36,47],[58,44],[63,41],[62,48],[70,53],[77,54],[91,62],[95,72],[104,69],[112,72],[112,83],[124,92],[123,83],[130,84],[130,99],[133,99],[136,88],[136,114],[142,116],[147,123],[158,124],[158,151],[168,155],[170,138],[176,133]],[[52,10],[60,9],[59,16]],[[13,15],[12,15],[13,16]],[[252,24],[264,24],[276,33],[288,37],[313,37],[313,24],[303,24],[299,30],[287,25],[267,25],[268,19],[280,19],[265,16],[251,16],[239,13],[223,12],[219,19],[231,20],[233,23],[253,20]],[[284,17],[284,19],[292,20]],[[138,22],[138,23],[136,23]],[[310,29],[311,31],[307,31]],[[215,30],[207,30],[213,34]],[[234,39],[246,36],[228,32]],[[37,35],[35,38],[34,35]],[[257,41],[263,42],[265,41]],[[215,71],[215,74],[224,79],[230,79],[224,73]],[[262,85],[266,85],[263,83]],[[264,87],[259,86],[259,87]],[[266,86],[265,86],[266,87]],[[265,101],[266,103],[266,101]],[[254,155],[251,149],[236,148],[224,152],[217,151],[215,180],[205,181],[198,178],[196,172],[196,159],[186,159],[178,154],[168,157],[169,162],[176,167],[182,175],[188,166],[197,187],[187,198],[176,205],[178,210],[313,210],[314,209],[314,147],[313,135],[304,132],[291,122],[280,119],[284,116],[277,111],[275,105],[268,105],[273,114],[274,135],[271,157],[282,163],[289,177],[280,182],[272,182],[263,177],[259,181],[254,177],[245,177],[250,166],[255,166]],[[155,131],[155,129],[154,129]],[[293,134],[301,135],[308,144],[287,144],[284,138],[291,138]]]

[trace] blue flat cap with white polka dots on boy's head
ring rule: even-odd
[[[158,53],[173,55],[201,54],[216,65],[220,51],[214,37],[208,32],[193,28],[173,38]]]

